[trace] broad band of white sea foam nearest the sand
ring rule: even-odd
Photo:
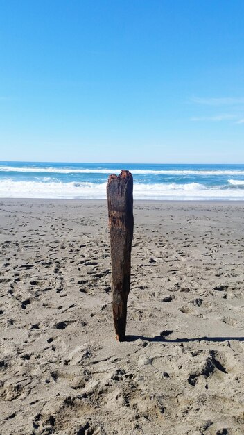
[[[105,199],[106,183],[0,181],[0,197]],[[244,199],[244,189],[200,183],[134,183],[134,199]]]

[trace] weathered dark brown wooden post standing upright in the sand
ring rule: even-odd
[[[133,177],[129,171],[110,175],[107,207],[112,262],[112,306],[116,339],[125,338],[127,299],[130,291],[130,254],[133,238]]]

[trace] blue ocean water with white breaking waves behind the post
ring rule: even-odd
[[[244,165],[0,162],[0,197],[105,199],[109,174],[130,170],[134,199],[244,200]]]

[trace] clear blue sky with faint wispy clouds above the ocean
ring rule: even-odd
[[[244,1],[0,0],[0,160],[244,163]]]

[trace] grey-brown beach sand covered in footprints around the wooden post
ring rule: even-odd
[[[134,203],[124,343],[106,202],[0,204],[1,435],[244,434],[243,203]]]

